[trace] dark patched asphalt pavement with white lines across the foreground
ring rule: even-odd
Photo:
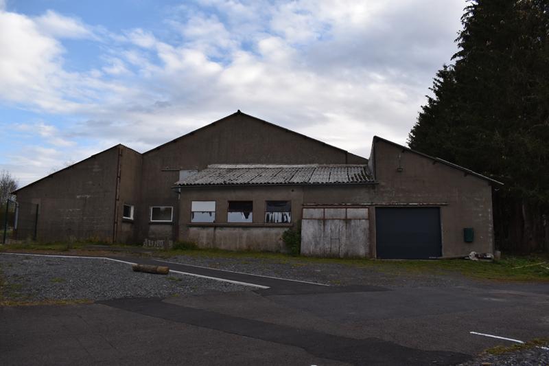
[[[456,365],[514,343],[471,332],[522,341],[549,336],[547,284],[323,286],[169,265],[261,287],[3,307],[0,365]]]

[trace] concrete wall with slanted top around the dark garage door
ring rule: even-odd
[[[467,255],[471,251],[493,252],[489,181],[386,141],[378,140],[374,149],[375,179],[379,182],[375,187],[376,205],[419,203],[441,207],[445,257]],[[371,213],[375,220],[375,213]],[[463,240],[465,227],[474,228],[474,242]]]

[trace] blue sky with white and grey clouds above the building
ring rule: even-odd
[[[465,0],[0,0],[0,169],[20,185],[237,109],[358,155],[406,143]]]

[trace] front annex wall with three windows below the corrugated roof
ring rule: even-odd
[[[346,200],[362,199],[364,194],[367,195],[367,192],[372,190],[370,185],[185,187],[181,190],[178,239],[196,242],[200,247],[284,251],[285,246],[281,235],[283,231],[301,221],[303,203],[325,205],[353,203],[353,201]],[[191,223],[192,201],[215,201],[215,223]],[[229,201],[253,201],[253,222],[250,224],[227,222]],[[266,201],[292,201],[292,224],[266,224]],[[333,209],[328,209],[328,211],[330,210]],[[353,214],[356,212],[353,209],[349,210],[351,217],[354,218]],[[337,254],[330,253],[331,256],[364,257],[369,255],[367,245],[370,236],[369,223],[361,220],[355,221],[341,224],[343,229]],[[364,221],[366,220],[364,219]],[[327,238],[329,238],[329,233]],[[318,245],[316,246],[318,247]]]

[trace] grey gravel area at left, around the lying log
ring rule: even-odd
[[[0,299],[12,301],[168,297],[254,289],[178,273],[134,272],[129,264],[110,260],[31,255],[1,254],[1,277]]]

